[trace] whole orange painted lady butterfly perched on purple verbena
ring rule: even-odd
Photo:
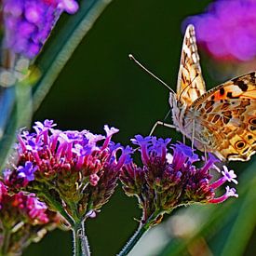
[[[256,72],[206,91],[195,41],[188,25],[182,45],[177,91],[170,92],[174,127],[203,152],[221,160],[248,161],[256,152]]]

